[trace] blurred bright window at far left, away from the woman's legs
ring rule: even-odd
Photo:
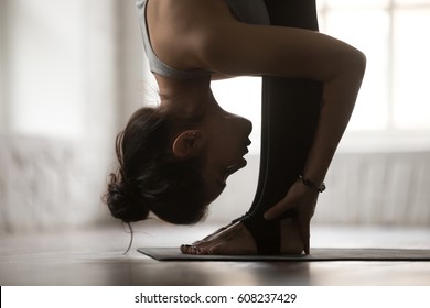
[[[0,128],[18,134],[76,135],[83,127],[79,1],[4,1],[0,26]]]

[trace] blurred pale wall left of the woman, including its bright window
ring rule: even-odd
[[[0,233],[92,226],[143,100],[135,1],[0,0]]]

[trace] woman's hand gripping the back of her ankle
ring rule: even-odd
[[[297,212],[297,222],[305,254],[309,254],[310,223],[315,212],[318,196],[319,191],[307,187],[301,180],[297,180],[286,197],[265,212],[267,220],[275,219],[287,210]]]

